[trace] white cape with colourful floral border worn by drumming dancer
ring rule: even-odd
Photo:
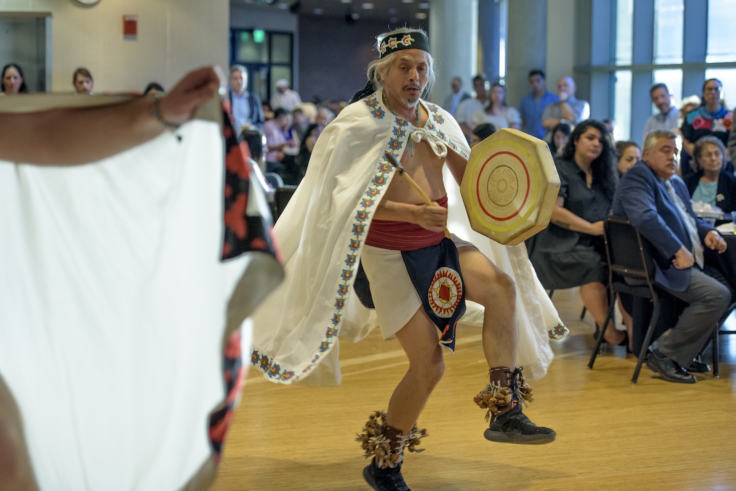
[[[470,149],[453,117],[421,103],[430,115],[425,130],[467,159]],[[338,333],[356,341],[376,327],[375,313],[352,294],[353,282],[373,212],[394,177],[384,152],[400,157],[408,133],[407,121],[392,116],[374,93],[346,107],[319,136],[305,178],[274,228],[286,280],[253,318],[251,363],[269,380],[339,384]],[[447,169],[445,188],[450,232],[473,241],[516,280],[517,363],[527,378],[542,377],[553,358],[546,331],[562,322],[526,249],[501,246],[470,228],[459,186]],[[460,323],[482,322],[483,308],[469,303]]]

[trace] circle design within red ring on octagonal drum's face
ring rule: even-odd
[[[492,160],[495,160],[495,166],[488,165]],[[526,163],[514,152],[496,152],[483,163],[478,172],[475,197],[486,216],[505,222],[517,216],[524,208],[529,197],[529,188]]]

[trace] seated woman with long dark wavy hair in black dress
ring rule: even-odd
[[[545,289],[580,287],[583,305],[603,326],[608,314],[608,266],[603,249],[603,219],[618,177],[613,141],[600,121],[578,124],[555,160],[559,196],[550,225],[537,234],[530,260]],[[626,333],[612,322],[604,339],[626,345]]]

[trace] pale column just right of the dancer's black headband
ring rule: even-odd
[[[478,66],[478,0],[434,0],[430,4],[429,43],[437,69],[430,99],[439,105],[450,95],[450,80],[460,77],[473,91]]]

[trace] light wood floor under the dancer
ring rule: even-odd
[[[486,384],[477,331],[458,333],[445,378],[419,425],[426,451],[406,457],[414,491],[736,490],[736,336],[721,336],[721,378],[671,384],[609,352],[587,370],[590,315],[579,320],[576,289],[553,299],[571,334],[553,342],[548,375],[534,382],[525,409],[557,433],[548,445],[504,445],[483,438],[484,411],[473,395]],[[729,328],[736,328],[734,316]],[[342,386],[272,384],[250,372],[224,450],[217,491],[369,490],[367,461],[354,441],[370,411],[386,409],[407,363],[378,332],[342,343]]]

